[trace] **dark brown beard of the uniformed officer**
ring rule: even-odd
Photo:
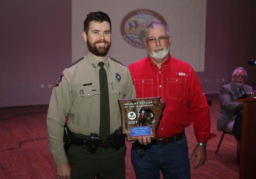
[[[105,43],[106,46],[97,47],[96,46],[97,43]],[[111,42],[108,42],[106,40],[98,40],[94,43],[91,43],[89,40],[87,40],[87,46],[88,46],[89,52],[91,52],[93,55],[97,57],[105,57],[109,53]]]

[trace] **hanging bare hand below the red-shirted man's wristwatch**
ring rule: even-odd
[[[191,155],[191,162],[193,162],[196,159],[196,165],[194,166],[194,168],[198,168],[201,167],[205,161],[206,161],[206,148],[200,145],[197,145],[194,148],[194,151]]]

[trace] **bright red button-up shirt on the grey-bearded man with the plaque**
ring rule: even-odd
[[[193,122],[198,142],[214,137],[210,133],[209,106],[194,69],[187,63],[169,58],[159,69],[146,57],[128,66],[136,88],[136,97],[160,96],[165,102],[157,128],[157,138],[181,133]]]

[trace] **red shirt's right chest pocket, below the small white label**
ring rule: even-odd
[[[166,79],[166,95],[169,99],[184,99],[186,92],[187,78],[177,76]]]

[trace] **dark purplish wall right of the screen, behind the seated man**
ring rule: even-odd
[[[218,93],[239,66],[248,72],[247,84],[256,88],[256,66],[247,64],[256,58],[253,10],[253,0],[207,1],[205,71],[198,72],[206,93]]]

